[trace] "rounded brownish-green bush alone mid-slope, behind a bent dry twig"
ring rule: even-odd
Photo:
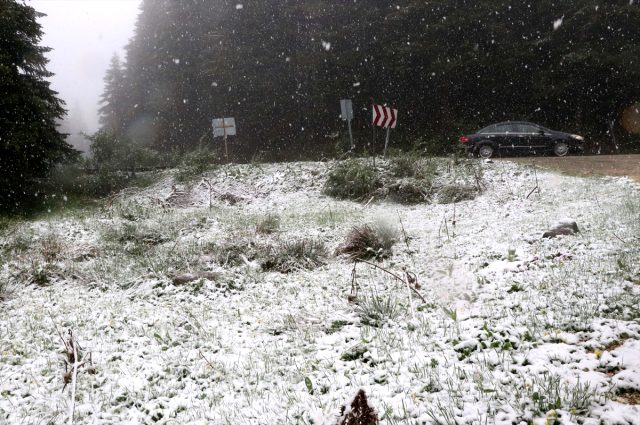
[[[375,226],[369,224],[355,226],[336,253],[346,254],[353,259],[382,260],[391,256],[391,247],[396,241],[396,233],[396,229],[386,223]]]

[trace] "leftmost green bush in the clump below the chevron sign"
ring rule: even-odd
[[[373,165],[357,159],[339,163],[324,186],[324,193],[338,199],[362,199],[382,187],[380,173]]]

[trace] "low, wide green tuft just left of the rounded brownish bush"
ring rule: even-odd
[[[324,264],[327,248],[322,241],[302,239],[284,242],[276,247],[262,263],[262,270],[291,273],[297,270],[313,270]]]

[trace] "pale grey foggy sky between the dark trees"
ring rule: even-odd
[[[71,130],[98,127],[98,100],[114,53],[133,35],[140,0],[30,0],[48,16],[40,18],[42,45],[48,54],[52,87],[67,103]]]

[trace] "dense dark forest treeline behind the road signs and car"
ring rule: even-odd
[[[460,133],[526,119],[630,150],[620,118],[640,101],[638,58],[640,2],[628,0],[144,0],[106,77],[103,125],[184,151],[219,146],[211,119],[233,116],[236,159],[300,158],[343,140],[347,97],[360,148],[369,105],[386,102],[397,146],[446,151]]]

